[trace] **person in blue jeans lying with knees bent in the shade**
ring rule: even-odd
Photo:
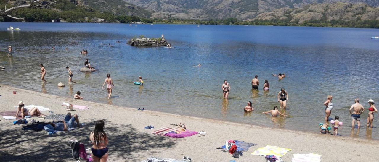
[[[76,122],[76,123],[75,123]],[[67,113],[66,117],[62,121],[62,123],[53,123],[49,122],[48,125],[45,126],[45,130],[48,132],[54,132],[56,131],[67,131],[70,128],[76,128],[79,127],[79,117],[77,114],[74,114],[74,116],[71,116],[71,113]]]

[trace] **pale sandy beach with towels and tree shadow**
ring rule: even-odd
[[[134,108],[73,100],[3,84],[0,86],[0,111],[17,110],[15,106],[20,100],[23,100],[25,105],[48,107],[56,114],[68,112],[61,106],[63,102],[92,107],[92,109],[70,111],[72,114],[78,114],[80,122],[85,123],[85,126],[53,135],[48,135],[46,131],[22,131],[20,125],[13,125],[13,120],[1,118],[0,158],[2,161],[74,161],[69,139],[76,139],[85,143],[86,148],[90,148],[89,133],[94,129],[96,120],[100,119],[105,120],[105,132],[109,138],[108,161],[138,162],[152,156],[181,160],[183,154],[186,154],[193,162],[228,162],[229,160],[264,162],[263,156],[251,155],[251,153],[257,148],[272,145],[292,149],[282,157],[284,161],[291,161],[293,154],[316,153],[321,155],[323,162],[360,162],[372,161],[373,151],[379,150],[377,140],[346,136],[333,137],[326,134],[265,128],[149,110],[138,111]],[[17,91],[17,94],[13,94],[13,91]],[[49,112],[42,113],[49,114]],[[33,119],[40,122],[52,121],[38,117],[33,117]],[[203,130],[207,132],[207,135],[173,139],[153,135],[151,133],[153,130],[144,129],[147,125],[153,125],[155,129],[170,127],[171,123],[185,123],[187,129]],[[346,122],[343,129],[351,129],[348,123]],[[317,132],[318,124],[315,123],[314,127]],[[229,139],[258,145],[252,146],[244,152],[243,156],[235,159],[229,153],[216,150]]]

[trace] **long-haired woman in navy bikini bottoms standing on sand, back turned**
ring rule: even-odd
[[[92,159],[94,162],[106,162],[108,159],[108,137],[104,132],[104,121],[96,122],[95,130],[89,135],[92,143]]]

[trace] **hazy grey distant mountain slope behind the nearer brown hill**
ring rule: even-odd
[[[311,3],[351,2],[379,6],[379,0],[124,0],[151,10],[151,18],[252,19],[279,8],[299,8]]]

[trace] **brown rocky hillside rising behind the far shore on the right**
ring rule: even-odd
[[[379,20],[379,8],[365,3],[313,3],[296,9],[280,8],[272,12],[265,12],[248,21],[258,19],[297,24]]]

